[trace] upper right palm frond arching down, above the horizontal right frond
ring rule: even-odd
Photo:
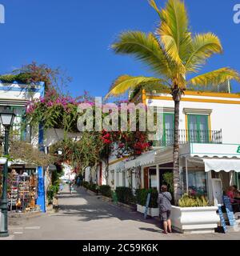
[[[212,54],[222,53],[219,38],[213,33],[197,34],[186,58],[186,71],[197,72]]]

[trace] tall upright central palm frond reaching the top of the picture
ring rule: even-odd
[[[184,2],[169,0],[166,8],[161,10],[160,18],[161,24],[157,34],[163,48],[178,66],[182,66],[182,58],[186,56],[188,46],[192,42]]]

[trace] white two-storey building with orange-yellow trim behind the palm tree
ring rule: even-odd
[[[110,158],[107,184],[133,189],[157,188],[173,171],[174,101],[170,94],[142,95],[142,102],[162,115],[162,131],[154,150],[137,159]],[[138,95],[139,98],[139,95]],[[188,91],[180,104],[180,173],[185,191],[222,202],[230,185],[239,188],[240,95]],[[98,172],[97,179],[99,180]],[[101,178],[100,178],[101,179]],[[99,183],[98,183],[99,184]]]

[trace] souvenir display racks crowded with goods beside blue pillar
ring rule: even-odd
[[[8,207],[11,212],[39,211],[38,174],[34,166],[10,166]]]

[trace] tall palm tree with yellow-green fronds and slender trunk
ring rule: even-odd
[[[208,58],[222,53],[219,38],[213,33],[192,34],[186,6],[181,0],[168,0],[164,9],[159,9],[154,0],[149,2],[160,18],[155,33],[127,31],[119,35],[112,48],[116,54],[131,54],[144,62],[155,77],[122,75],[110,87],[106,98],[146,85],[170,88],[174,99],[174,198],[178,202],[182,194],[178,139],[182,94],[188,86],[218,86],[232,79],[240,82],[240,76],[237,71],[228,67],[198,74]],[[189,74],[198,75],[187,79]]]

